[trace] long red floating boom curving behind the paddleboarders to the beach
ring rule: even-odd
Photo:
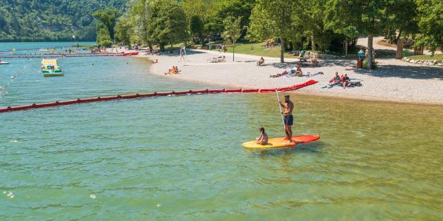
[[[9,112],[9,111],[24,111],[33,108],[46,108],[51,106],[62,106],[62,105],[71,105],[71,104],[82,104],[82,103],[91,103],[91,102],[102,102],[109,101],[113,99],[134,99],[139,97],[162,97],[168,95],[188,95],[188,94],[204,94],[204,93],[269,93],[277,91],[290,91],[297,90],[300,88],[304,88],[305,86],[309,86],[311,84],[316,84],[318,81],[309,80],[303,84],[296,84],[290,87],[285,88],[264,88],[264,89],[215,89],[215,90],[186,90],[186,91],[172,91],[172,92],[163,92],[163,93],[143,93],[143,94],[133,94],[133,95],[114,95],[108,97],[89,97],[89,98],[79,98],[72,99],[64,102],[51,102],[51,103],[42,103],[42,104],[27,104],[23,106],[8,106],[6,108],[0,108],[0,113]]]

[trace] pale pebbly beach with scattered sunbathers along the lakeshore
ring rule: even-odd
[[[128,51],[129,52],[129,51]],[[386,102],[405,102],[416,104],[443,104],[443,68],[418,66],[396,59],[377,59],[377,70],[357,70],[354,59],[320,60],[316,67],[303,67],[303,73],[323,72],[324,75],[313,77],[278,77],[269,75],[281,73],[296,66],[297,59],[264,57],[264,66],[256,66],[260,58],[255,55],[235,54],[208,50],[188,50],[186,60],[174,55],[137,55],[151,60],[159,59],[159,64],[152,64],[151,71],[156,75],[173,77],[187,81],[199,81],[217,84],[224,88],[278,88],[300,84],[309,79],[318,84],[297,90],[296,93],[340,97],[349,99],[379,100]],[[212,57],[225,56],[226,62],[210,63]],[[165,75],[172,66],[178,66],[179,75]],[[322,88],[328,84],[335,72],[345,74],[351,79],[361,79],[363,86],[343,89]]]

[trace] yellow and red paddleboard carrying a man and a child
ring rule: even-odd
[[[252,148],[252,149],[262,149],[262,148],[284,148],[289,146],[296,146],[297,144],[305,144],[309,142],[313,142],[320,139],[320,135],[299,135],[293,136],[292,141],[288,143],[287,140],[284,140],[284,137],[278,138],[269,138],[268,144],[256,144],[255,140],[243,143],[242,146],[244,148]]]

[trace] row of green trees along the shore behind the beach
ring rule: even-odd
[[[211,37],[231,43],[277,39],[282,62],[285,50],[327,51],[343,43],[347,49],[356,37],[368,37],[368,57],[373,37],[381,35],[397,44],[397,59],[406,39],[417,55],[443,48],[441,0],[134,0],[122,15],[111,11],[94,15],[100,20],[98,44],[115,39],[165,50]]]

